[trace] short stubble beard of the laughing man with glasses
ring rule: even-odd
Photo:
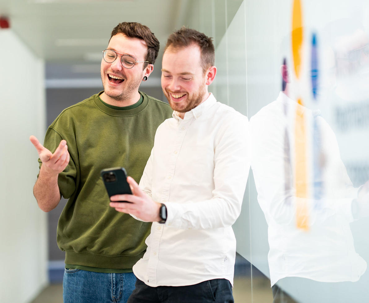
[[[132,94],[134,94],[138,90],[138,87],[140,86],[142,81],[143,74],[144,73],[142,71],[141,75],[138,75],[136,78],[131,79],[130,81],[127,81],[127,78],[124,77],[125,80],[122,82],[122,84],[124,82],[127,83],[125,83],[124,86],[120,89],[120,91],[118,91],[118,89],[109,88],[109,79],[106,78],[108,76],[101,71],[101,80],[103,82],[104,92],[107,96],[109,96],[111,99],[114,99],[115,101],[125,101],[127,99],[130,99]],[[107,80],[104,81],[103,79]]]

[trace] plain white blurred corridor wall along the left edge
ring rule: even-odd
[[[28,302],[48,283],[47,215],[32,195],[38,165],[28,142],[45,133],[45,64],[13,31],[0,29],[0,41],[0,301]]]

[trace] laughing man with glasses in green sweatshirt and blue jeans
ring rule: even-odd
[[[159,41],[137,22],[118,24],[101,60],[104,91],[63,110],[48,127],[34,186],[39,208],[68,199],[57,242],[65,251],[64,302],[126,302],[136,278],[132,266],[145,253],[151,223],[109,207],[100,171],[123,166],[137,182],[156,128],[170,106],[138,91],[158,56]]]

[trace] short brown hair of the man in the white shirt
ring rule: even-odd
[[[215,49],[213,44],[213,38],[206,36],[196,29],[182,27],[173,34],[171,34],[166,42],[165,49],[168,47],[182,48],[192,44],[196,44],[201,50],[201,66],[204,73],[206,70],[214,65],[215,62]]]

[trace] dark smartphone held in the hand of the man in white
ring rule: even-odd
[[[103,178],[109,198],[113,195],[132,194],[130,184],[127,182],[127,172],[123,167],[103,169],[100,175]],[[128,201],[119,202],[131,203]]]

